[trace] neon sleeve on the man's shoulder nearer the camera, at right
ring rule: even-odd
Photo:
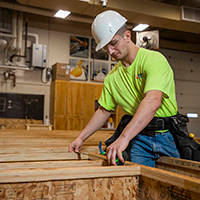
[[[169,98],[174,81],[172,69],[162,54],[158,53],[155,60],[146,67],[144,93],[150,90],[159,90],[164,93],[165,98]]]

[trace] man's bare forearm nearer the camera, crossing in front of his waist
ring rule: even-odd
[[[125,137],[129,141],[133,139],[153,119],[160,105],[160,98],[144,98],[120,137]]]

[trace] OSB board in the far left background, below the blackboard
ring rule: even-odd
[[[5,129],[21,129],[25,130],[25,124],[42,124],[42,120],[30,120],[30,119],[8,119],[0,118],[0,124],[5,124]]]

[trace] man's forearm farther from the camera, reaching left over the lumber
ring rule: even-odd
[[[78,138],[80,138],[82,141],[85,141],[88,137],[90,137],[93,133],[98,131],[104,125],[110,115],[110,111],[107,111],[103,107],[100,107],[94,113],[86,127],[81,131]]]

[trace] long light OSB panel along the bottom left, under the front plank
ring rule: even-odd
[[[137,199],[138,176],[0,184],[0,198],[9,200]]]

